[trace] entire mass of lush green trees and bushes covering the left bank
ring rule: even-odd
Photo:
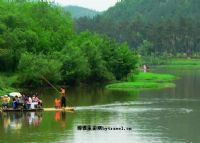
[[[47,2],[0,1],[0,73],[10,85],[105,82],[126,78],[138,56],[128,44],[92,32],[75,33],[63,8]]]

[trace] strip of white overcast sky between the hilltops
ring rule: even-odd
[[[107,10],[109,7],[114,6],[119,0],[55,0],[56,3],[66,5],[76,5],[97,11]]]

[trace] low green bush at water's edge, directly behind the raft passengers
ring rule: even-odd
[[[43,85],[47,79],[51,83],[61,80],[61,63],[45,55],[24,53],[19,61],[19,82],[26,86]]]

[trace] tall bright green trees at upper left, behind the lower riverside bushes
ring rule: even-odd
[[[46,2],[0,1],[0,70],[15,71],[21,53],[61,50],[73,37],[72,19]]]

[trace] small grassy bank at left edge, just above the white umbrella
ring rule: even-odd
[[[12,87],[16,80],[16,75],[0,73],[0,96],[16,91],[16,89]]]

